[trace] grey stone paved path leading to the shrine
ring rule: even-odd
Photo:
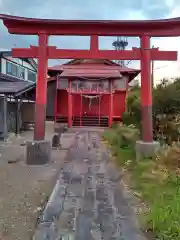
[[[96,132],[79,132],[35,240],[145,240]]]

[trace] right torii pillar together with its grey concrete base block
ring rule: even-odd
[[[150,37],[145,35],[141,37],[141,113],[142,141],[136,143],[137,158],[150,157],[160,148],[153,141]]]

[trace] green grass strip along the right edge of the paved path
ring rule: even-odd
[[[129,131],[133,130],[128,128]],[[180,177],[157,158],[136,161],[133,141],[137,135],[130,134],[129,139],[124,135],[125,129],[113,127],[105,132],[104,138],[111,145],[116,163],[129,171],[132,189],[150,208],[146,215],[140,216],[144,230],[151,232],[156,240],[179,240]]]

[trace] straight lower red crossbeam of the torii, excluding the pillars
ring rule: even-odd
[[[48,47],[49,59],[119,59],[119,60],[139,60],[141,50],[74,50],[74,49],[56,49]],[[38,57],[38,47],[12,49],[13,57]],[[156,61],[175,61],[177,60],[177,51],[154,51],[151,49],[151,60]]]

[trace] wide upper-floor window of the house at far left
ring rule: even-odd
[[[11,62],[6,63],[7,66],[7,74],[14,76],[14,77],[18,77],[18,78],[25,78],[25,69],[14,64]]]

